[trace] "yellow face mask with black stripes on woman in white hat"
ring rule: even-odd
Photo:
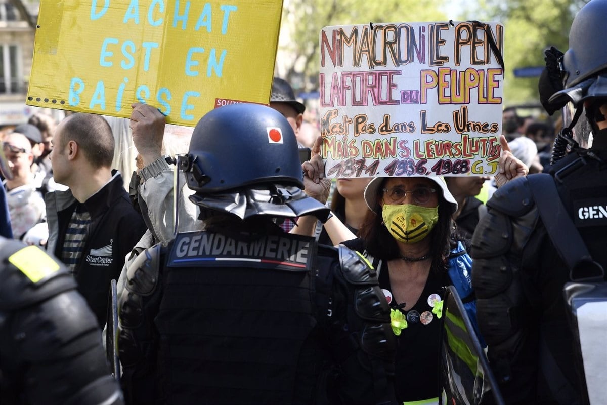
[[[382,218],[385,227],[396,240],[416,243],[428,236],[438,222],[438,206],[384,205]]]

